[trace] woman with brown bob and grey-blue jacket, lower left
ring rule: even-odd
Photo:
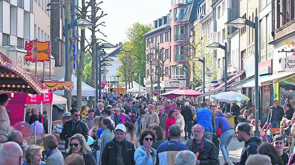
[[[54,135],[47,134],[42,137],[42,142],[44,149],[47,151],[45,155],[47,156],[46,164],[47,165],[55,165],[55,164],[63,164],[63,156],[62,153],[57,149],[57,138]]]

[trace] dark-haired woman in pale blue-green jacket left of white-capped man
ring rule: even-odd
[[[113,138],[115,138],[115,134],[113,133],[115,128],[113,124],[111,123],[110,119],[104,118],[100,122],[100,127],[101,129],[104,129],[104,132],[100,135],[100,138],[98,141],[98,145],[100,148],[99,161],[98,161],[99,163],[101,163],[101,155],[102,155],[102,152],[104,151],[105,144],[113,140]]]

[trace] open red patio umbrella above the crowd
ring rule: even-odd
[[[190,88],[187,87],[180,87],[178,89],[175,89],[173,91],[169,91],[163,94],[160,94],[161,96],[164,96],[166,98],[169,99],[174,99],[177,98],[179,96],[191,96],[191,97],[198,97],[200,94],[203,94],[201,92],[198,92],[196,90],[192,90]]]

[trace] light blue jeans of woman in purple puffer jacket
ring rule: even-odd
[[[233,136],[234,136],[234,130],[230,129],[222,133],[220,137],[220,149],[225,162],[228,161],[228,156],[229,156],[228,146],[229,146],[229,143],[232,141]]]

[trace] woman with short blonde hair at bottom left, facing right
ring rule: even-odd
[[[23,165],[46,165],[45,162],[41,161],[42,147],[37,145],[31,145],[26,151],[26,160]]]

